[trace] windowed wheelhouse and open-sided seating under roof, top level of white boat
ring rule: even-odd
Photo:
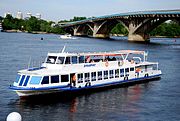
[[[78,64],[98,61],[127,60],[129,55],[143,55],[145,60],[147,56],[145,51],[120,50],[112,52],[94,52],[94,53],[48,53],[45,60],[47,64]],[[141,61],[142,61],[141,59]]]

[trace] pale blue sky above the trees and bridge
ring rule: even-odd
[[[0,0],[0,16],[18,11],[40,13],[42,19],[60,21],[74,16],[92,17],[147,10],[180,9],[180,0]]]

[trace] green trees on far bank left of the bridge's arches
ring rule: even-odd
[[[71,22],[71,21],[79,21],[82,19],[86,19],[85,17],[74,17],[73,19],[63,20],[60,22]],[[0,21],[2,21],[3,30],[20,30],[27,31],[29,33],[32,32],[46,32],[46,33],[56,33],[56,34],[64,34],[66,33],[62,28],[55,25],[53,21],[46,21],[42,19],[37,19],[34,16],[26,19],[17,19],[13,18],[11,15],[7,15],[5,18],[0,16]]]

